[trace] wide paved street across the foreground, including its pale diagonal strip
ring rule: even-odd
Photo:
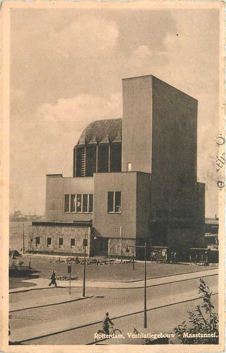
[[[218,276],[212,274],[202,278],[216,293]],[[121,329],[123,334],[133,332],[134,327],[139,332],[171,333],[182,321],[188,321],[187,311],[201,303],[198,285],[199,279],[195,278],[147,287],[146,330],[143,330],[143,288],[87,288],[86,295],[92,298],[10,313],[10,338],[23,344],[88,344],[94,341],[94,333],[101,328],[106,311],[114,327]],[[71,299],[81,296],[81,289],[72,287]],[[13,305],[26,299],[27,307],[31,307],[29,303],[38,296],[44,295],[48,302],[48,298],[65,294],[68,295],[68,288],[37,289],[12,293],[10,301]],[[212,301],[217,312],[216,294]]]

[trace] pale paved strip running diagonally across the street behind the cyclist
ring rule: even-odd
[[[217,286],[212,287],[212,295],[217,293]],[[181,293],[175,293],[175,295],[167,296],[163,298],[154,298],[147,301],[147,310],[153,310],[161,307],[168,307],[174,304],[183,303],[195,299],[199,299],[200,296],[197,293],[197,289],[190,290],[183,296],[181,300]],[[92,299],[91,299],[92,300]],[[143,312],[143,301],[133,303],[133,305],[128,304],[124,306],[117,306],[111,308],[111,319],[116,320],[124,316],[137,314]],[[56,320],[49,323],[33,325],[28,327],[21,327],[12,331],[10,340],[13,342],[23,342],[29,341],[35,338],[40,338],[48,336],[54,333],[60,333],[65,331],[70,331],[73,329],[78,329],[81,327],[87,327],[95,324],[99,324],[102,320],[103,311],[97,311],[92,313],[83,314],[75,317],[67,317],[63,320]],[[95,330],[95,328],[94,328]]]

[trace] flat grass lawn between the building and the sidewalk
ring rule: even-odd
[[[50,278],[52,270],[56,276],[67,275],[67,263],[58,263],[53,258],[22,256],[20,260],[24,261],[24,266],[28,266],[31,260],[32,270],[29,275],[22,278],[10,277],[10,288],[27,286],[28,283],[21,282],[22,279],[32,278]],[[83,265],[72,264],[71,275],[77,276],[79,280],[83,279]],[[211,267],[210,267],[211,268]],[[189,273],[206,270],[208,267],[185,264],[161,264],[147,262],[147,278],[156,278],[162,276],[175,275],[180,273]],[[132,263],[115,265],[87,265],[87,280],[108,280],[108,281],[132,281],[143,279],[144,263],[136,262],[135,269],[132,269]],[[31,283],[29,285],[32,285]]]

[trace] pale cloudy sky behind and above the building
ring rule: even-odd
[[[154,75],[198,99],[198,181],[217,211],[218,10],[12,9],[10,210],[44,214],[46,174],[72,177],[92,121],[122,117],[121,79]]]

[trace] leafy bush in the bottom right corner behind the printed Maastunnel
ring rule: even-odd
[[[213,313],[214,306],[211,302],[211,294],[204,280],[200,278],[199,293],[203,299],[203,305],[197,305],[189,314],[189,327],[186,322],[174,328],[181,344],[218,344],[218,314]],[[204,308],[203,315],[201,308]]]

